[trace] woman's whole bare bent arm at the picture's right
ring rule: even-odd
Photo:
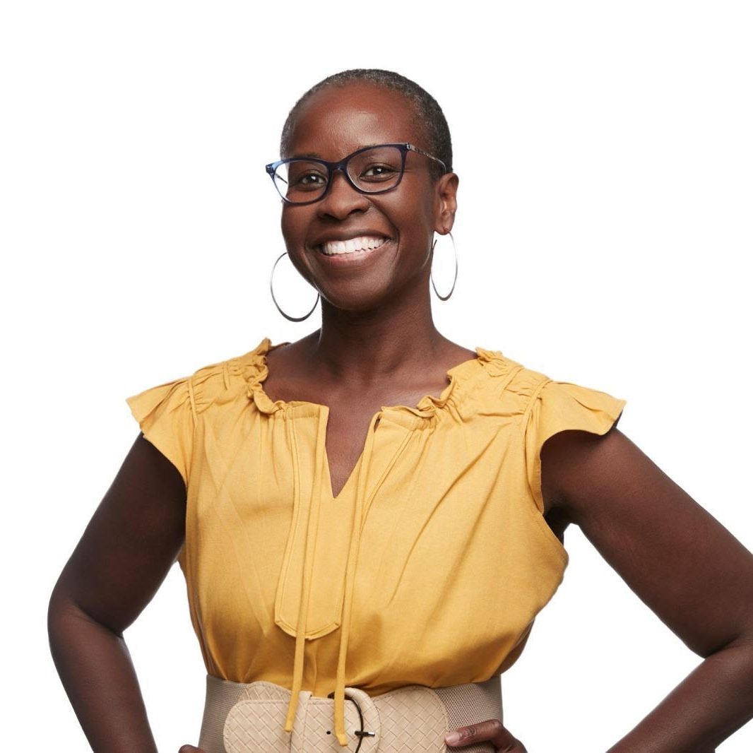
[[[617,428],[541,451],[544,498],[703,662],[608,753],[709,753],[753,718],[753,554]]]

